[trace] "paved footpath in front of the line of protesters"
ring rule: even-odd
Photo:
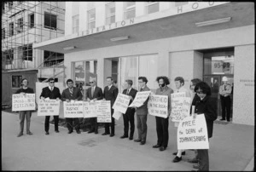
[[[52,119],[52,118],[51,118]],[[50,120],[51,120],[50,119]],[[177,149],[176,129],[169,124],[169,145],[164,152],[152,148],[156,144],[155,118],[148,116],[148,137],[144,146],[123,135],[123,119],[116,121],[115,136],[99,134],[80,135],[60,127],[54,132],[50,125],[49,135],[44,135],[44,117],[32,114],[33,135],[17,137],[19,116],[2,112],[2,169],[3,170],[187,170],[190,171],[194,152],[186,151],[183,160],[172,163],[172,152]],[[25,125],[26,126],[26,125]],[[26,128],[26,127],[25,127]],[[26,131],[26,129],[25,129]],[[26,132],[25,132],[26,133]],[[134,139],[137,139],[137,129]],[[253,168],[254,127],[239,124],[214,124],[210,139],[210,170],[235,170]],[[247,164],[251,166],[248,168]]]

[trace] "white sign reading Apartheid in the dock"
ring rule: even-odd
[[[168,116],[168,96],[150,95],[148,100],[148,112],[150,115],[167,118]]]

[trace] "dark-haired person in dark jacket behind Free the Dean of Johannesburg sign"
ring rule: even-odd
[[[195,92],[200,99],[195,99],[192,106],[195,106],[194,118],[197,114],[203,113],[207,122],[208,139],[212,137],[213,121],[217,119],[217,102],[211,97],[211,88],[205,83],[197,83]],[[207,149],[198,149],[199,171],[209,171],[209,155]]]

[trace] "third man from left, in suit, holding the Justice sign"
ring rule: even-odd
[[[67,89],[64,89],[61,94],[61,100],[70,102],[70,100],[82,100],[83,95],[78,87],[73,87],[73,80],[67,79]],[[78,134],[80,134],[79,118],[66,118],[68,134],[73,132],[74,127]]]

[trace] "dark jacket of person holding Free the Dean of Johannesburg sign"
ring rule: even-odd
[[[208,138],[211,138],[213,131],[213,121],[217,119],[217,102],[209,95],[207,95],[203,100],[201,100],[199,96],[195,97],[194,100],[195,101],[193,101],[193,103],[195,105],[195,113],[205,114]]]

